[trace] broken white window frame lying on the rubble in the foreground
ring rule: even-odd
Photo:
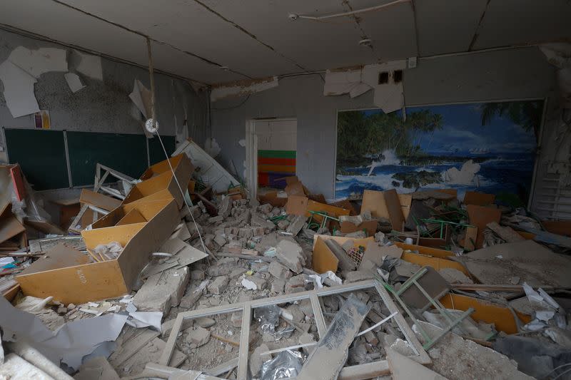
[[[413,330],[405,321],[403,314],[400,314],[396,304],[393,302],[393,299],[390,297],[383,285],[374,279],[355,282],[353,284],[343,284],[336,287],[323,287],[322,289],[308,290],[305,292],[283,294],[278,297],[255,299],[253,301],[238,302],[236,304],[221,305],[217,307],[210,307],[208,309],[196,309],[190,312],[178,313],[173,325],[173,329],[168,337],[168,341],[166,342],[165,349],[163,350],[163,354],[161,354],[161,359],[159,359],[158,364],[168,365],[168,362],[171,360],[171,356],[175,348],[178,333],[180,332],[183,321],[185,319],[195,319],[218,314],[228,314],[231,312],[242,312],[242,327],[240,331],[240,349],[238,351],[237,379],[247,379],[249,356],[248,339],[250,336],[252,309],[256,309],[257,307],[271,306],[273,304],[282,304],[285,302],[294,302],[300,301],[302,299],[309,299],[313,309],[313,316],[315,317],[315,324],[317,324],[319,338],[321,339],[325,336],[327,327],[325,326],[325,319],[323,318],[323,311],[320,307],[319,297],[370,288],[374,288],[378,292],[380,299],[385,303],[386,307],[388,307],[391,313],[397,312],[393,319],[395,319],[395,322],[398,324],[400,331],[403,333],[407,342],[410,344],[411,348],[413,351],[415,351],[416,354],[415,356],[410,356],[410,359],[414,359],[420,364],[431,364],[432,361],[430,360],[430,356],[428,356],[425,349],[423,349],[423,345],[420,344]],[[373,361],[367,364],[359,364],[356,366],[346,366],[340,372],[339,379],[370,379],[372,377],[382,376],[385,374],[390,374],[388,361],[386,359]]]

